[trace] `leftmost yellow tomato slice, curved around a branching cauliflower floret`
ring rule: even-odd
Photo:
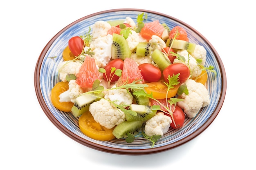
[[[60,94],[68,90],[68,82],[58,82],[52,88],[51,99],[52,104],[57,109],[62,110],[63,112],[70,112],[74,103],[72,102],[60,102]]]

